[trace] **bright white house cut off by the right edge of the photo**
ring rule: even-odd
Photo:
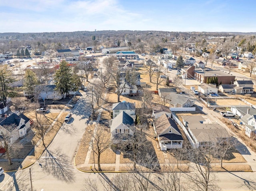
[[[246,114],[240,119],[240,121],[242,122],[242,126],[245,129],[245,134],[249,138],[254,138],[256,132],[256,115]]]

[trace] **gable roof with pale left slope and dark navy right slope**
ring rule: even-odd
[[[120,124],[125,125],[132,125],[134,124],[133,118],[128,115],[126,112],[122,111],[120,114],[118,114],[111,123],[110,130],[111,132],[116,129]]]

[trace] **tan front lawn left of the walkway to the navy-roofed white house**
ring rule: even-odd
[[[94,153],[95,163],[97,163],[98,156]],[[93,152],[91,153],[89,163],[94,163]],[[116,154],[112,149],[108,148],[100,155],[100,163],[116,163]]]

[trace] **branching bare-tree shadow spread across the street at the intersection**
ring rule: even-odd
[[[45,173],[53,175],[58,180],[74,182],[74,169],[68,162],[68,157],[61,154],[60,148],[57,148],[54,152],[46,149],[44,160],[40,164]]]

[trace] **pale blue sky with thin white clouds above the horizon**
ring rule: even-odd
[[[0,0],[0,33],[256,32],[256,0]]]

